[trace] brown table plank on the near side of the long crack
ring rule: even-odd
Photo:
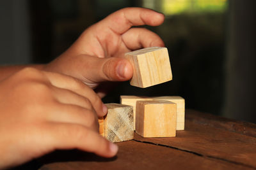
[[[113,159],[103,159],[88,153],[69,153],[73,159],[45,164],[40,169],[252,169],[148,143],[126,141],[117,145],[120,149]]]

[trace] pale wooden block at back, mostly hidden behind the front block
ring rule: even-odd
[[[120,103],[133,107],[134,130],[136,122],[136,102],[142,100],[166,100],[177,104],[177,131],[185,129],[185,100],[180,96],[160,96],[160,97],[147,97],[147,96],[120,96]]]

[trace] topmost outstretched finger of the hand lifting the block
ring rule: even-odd
[[[146,8],[124,8],[112,13],[97,25],[108,27],[117,34],[127,31],[132,25],[161,25],[164,15]]]

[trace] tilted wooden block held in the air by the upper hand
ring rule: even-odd
[[[136,87],[150,87],[172,80],[168,50],[165,47],[150,47],[125,53],[133,65],[130,84]]]

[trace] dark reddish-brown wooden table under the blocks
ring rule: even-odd
[[[256,169],[256,125],[186,110],[185,131],[176,138],[142,138],[118,143],[105,159],[77,150],[37,161],[40,169]],[[44,164],[42,166],[42,164]]]

